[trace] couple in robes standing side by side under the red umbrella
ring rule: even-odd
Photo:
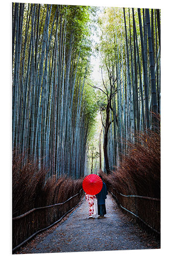
[[[102,176],[99,175],[99,177],[102,179]],[[102,180],[103,182],[103,180]],[[98,200],[98,215],[99,218],[104,218],[104,215],[106,214],[106,205],[105,205],[105,199],[108,195],[107,187],[106,184],[103,182],[102,190],[100,193],[96,195],[88,195],[85,194],[86,196],[86,201],[88,202],[89,205],[89,218],[93,218],[94,214],[94,199]]]

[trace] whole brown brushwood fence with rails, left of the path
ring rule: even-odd
[[[46,179],[47,170],[25,156],[13,155],[12,248],[57,224],[74,209],[83,195],[83,179],[56,175]],[[24,162],[24,164],[23,164]]]

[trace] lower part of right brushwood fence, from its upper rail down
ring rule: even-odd
[[[147,231],[160,236],[160,199],[137,195],[124,195],[113,186],[107,185],[109,192],[126,213],[135,217],[135,221]]]

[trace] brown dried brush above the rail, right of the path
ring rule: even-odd
[[[135,142],[128,143],[128,152],[115,172],[100,174],[107,184],[119,193],[160,198],[160,134],[135,134]]]

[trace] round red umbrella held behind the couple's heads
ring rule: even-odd
[[[96,195],[102,190],[102,179],[96,174],[89,174],[83,180],[83,189],[88,195]]]

